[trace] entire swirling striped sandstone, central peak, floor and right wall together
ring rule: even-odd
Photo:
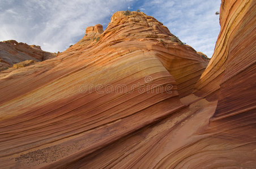
[[[0,74],[0,167],[255,168],[255,2],[223,1],[220,24],[209,64],[153,17],[119,11],[58,57]]]

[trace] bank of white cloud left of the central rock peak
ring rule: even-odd
[[[87,26],[106,24],[132,1],[14,1],[0,2],[0,41],[15,39],[43,50],[63,51],[83,37]]]

